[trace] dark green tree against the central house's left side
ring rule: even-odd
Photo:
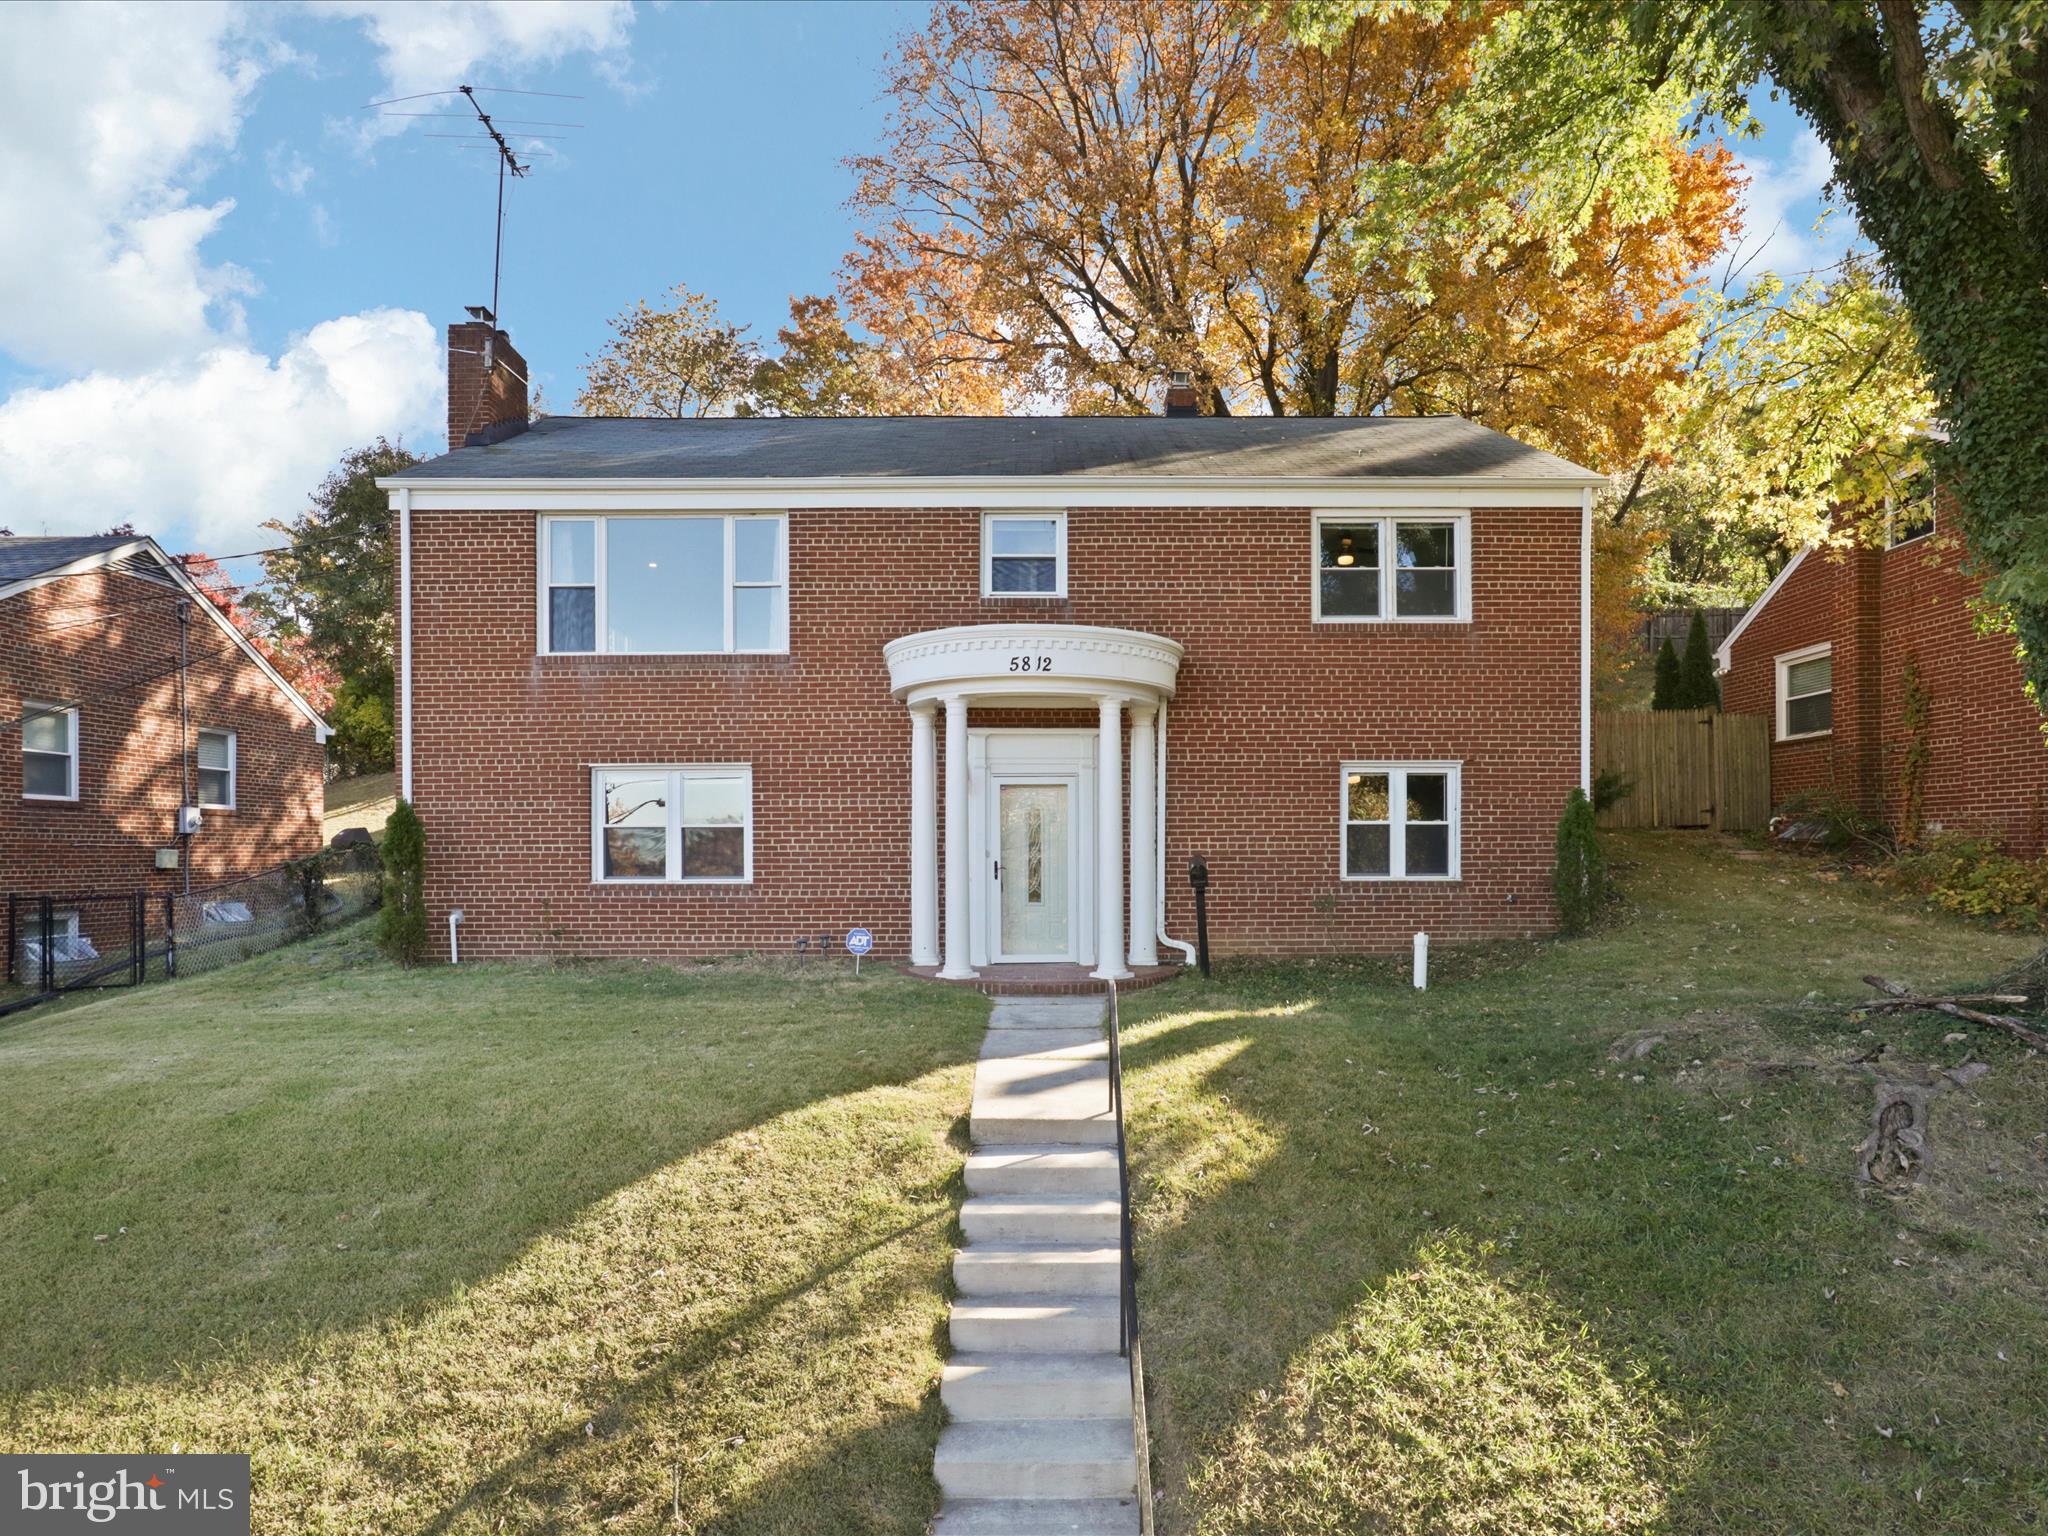
[[[344,774],[391,766],[397,539],[377,477],[416,463],[385,438],[342,455],[299,516],[264,524],[283,547],[264,555],[264,584],[244,598],[340,678],[328,750]]]

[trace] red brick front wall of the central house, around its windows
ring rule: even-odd
[[[541,657],[535,518],[414,512],[414,801],[434,942],[461,905],[475,954],[786,948],[856,922],[903,954],[911,727],[883,645],[1024,618],[1186,647],[1167,725],[1176,936],[1192,938],[1196,850],[1219,952],[1552,926],[1554,825],[1579,774],[1577,510],[1473,514],[1470,625],[1313,625],[1307,510],[1077,508],[1071,596],[1044,602],[981,600],[979,537],[979,510],[795,512],[791,655]],[[1092,711],[975,711],[977,725],[1069,721]],[[1462,760],[1462,881],[1337,879],[1339,764],[1360,758]],[[754,883],[592,885],[592,762],[750,762]]]

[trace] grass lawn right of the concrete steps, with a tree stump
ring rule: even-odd
[[[1571,944],[1225,967],[1124,1010],[1159,1528],[2034,1530],[2048,1063],[1847,1018],[2038,940],[1706,836]],[[1667,1040],[1630,1063],[1632,1030]],[[1870,1034],[1866,1034],[1870,1030]],[[1860,1194],[1872,1090],[1962,1061]]]

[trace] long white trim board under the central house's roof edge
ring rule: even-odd
[[[745,508],[979,508],[979,506],[1565,506],[1606,475],[1386,475],[1247,479],[1243,475],[748,475],[733,479],[520,479],[385,475],[379,489],[412,492],[440,512]],[[393,506],[397,502],[393,500]]]

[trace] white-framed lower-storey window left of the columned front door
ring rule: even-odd
[[[590,877],[743,885],[754,879],[754,770],[594,768]]]

